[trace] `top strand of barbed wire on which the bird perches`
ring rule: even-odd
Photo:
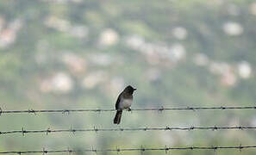
[[[185,107],[185,108],[165,108],[161,106],[160,108],[149,108],[149,109],[131,109],[132,111],[197,111],[197,110],[244,110],[244,109],[256,109],[256,106],[233,106],[233,107]],[[42,110],[3,110],[0,108],[0,115],[2,114],[34,114],[37,113],[62,113],[69,114],[71,112],[113,112],[116,109],[42,109]]]

